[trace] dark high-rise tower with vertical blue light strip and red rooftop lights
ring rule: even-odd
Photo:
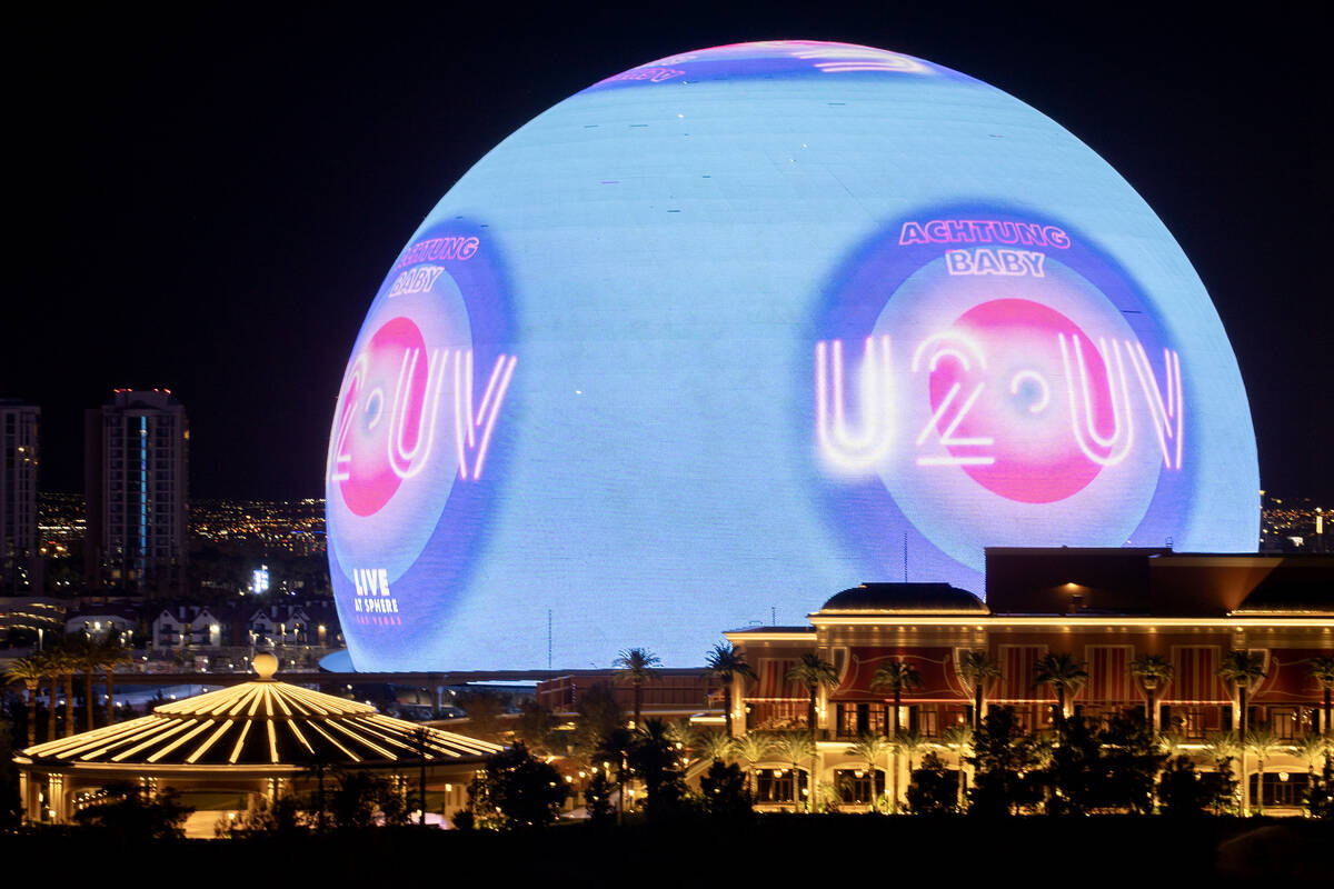
[[[185,408],[169,389],[116,389],[84,416],[89,590],[184,592]]]

